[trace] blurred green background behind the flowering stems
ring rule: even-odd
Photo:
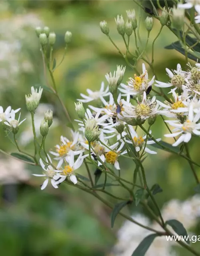
[[[64,52],[64,34],[72,32],[72,42],[66,58],[55,71],[59,93],[69,109],[72,118],[76,118],[74,101],[86,88],[98,90],[105,74],[114,71],[116,65],[125,65],[125,61],[102,34],[99,22],[106,20],[114,42],[125,51],[122,38],[116,30],[114,17],[126,10],[136,8],[132,0],[9,0],[0,1],[0,105],[6,108],[22,108],[22,118],[28,115],[25,94],[33,85],[45,85],[42,58],[38,38],[34,28],[49,26],[57,35],[53,55],[62,59]],[[146,14],[142,13],[142,20]],[[143,19],[144,18],[144,19]],[[154,28],[148,44],[160,29],[154,21]],[[141,39],[145,43],[146,30],[141,24]],[[159,80],[167,80],[165,68],[176,68],[184,58],[175,50],[165,50],[164,46],[176,40],[167,28],[164,28],[155,44],[154,68]],[[130,48],[135,50],[134,37]],[[131,60],[130,60],[131,61]],[[138,70],[142,72],[140,62]],[[149,70],[150,76],[152,76]],[[133,71],[127,66],[124,83]],[[54,109],[54,127],[50,129],[46,148],[54,148],[60,135],[70,136],[64,124],[64,116],[59,102],[50,92],[44,91],[42,104],[36,112],[37,125],[44,111],[50,106]],[[50,105],[48,105],[50,104]],[[28,118],[28,117],[27,117]],[[156,138],[167,133],[161,118],[158,118],[152,132]],[[21,147],[33,150],[32,133],[26,121],[17,134]],[[16,152],[16,148],[0,128],[0,148],[6,152]],[[168,140],[170,142],[170,140]],[[191,155],[199,162],[199,142],[190,142]],[[21,165],[0,155],[0,251],[6,256],[75,256],[109,255],[116,241],[116,233],[124,221],[118,216],[113,229],[110,228],[110,209],[92,196],[62,184],[58,190],[50,186],[40,190],[40,179],[30,176],[36,172],[32,166]],[[132,179],[132,162],[121,159],[122,177]],[[193,195],[194,177],[185,160],[158,150],[157,155],[150,155],[144,162],[147,180],[150,186],[160,184],[163,192],[156,195],[160,207],[172,198],[184,200]],[[196,168],[197,169],[197,168]],[[93,170],[95,171],[95,170]],[[38,169],[40,172],[40,169]],[[79,170],[86,176],[84,167]],[[199,170],[197,170],[199,175]],[[199,175],[200,176],[200,175]],[[120,196],[126,191],[119,187],[107,188]],[[115,200],[112,203],[116,203]],[[141,208],[130,206],[124,209],[127,214],[142,212]],[[145,213],[144,213],[145,214]],[[196,227],[195,234],[200,234]],[[193,246],[200,248],[198,243]],[[181,255],[188,255],[181,254]]]

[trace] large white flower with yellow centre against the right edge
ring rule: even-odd
[[[187,143],[190,141],[192,134],[198,135],[198,136],[200,135],[200,131],[199,131],[200,123],[197,123],[199,119],[200,119],[200,112],[194,115],[193,107],[190,106],[187,120],[183,124],[180,123],[178,120],[165,121],[171,126],[174,126],[176,128],[172,130],[174,133],[165,134],[164,136],[168,138],[172,138],[180,135],[178,140],[176,140],[176,142],[172,144],[172,146],[178,146],[181,142]]]

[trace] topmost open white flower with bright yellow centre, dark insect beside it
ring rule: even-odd
[[[140,76],[134,75],[134,78],[130,77],[128,81],[128,85],[121,84],[122,88],[119,88],[120,92],[123,92],[124,95],[136,95],[143,94],[144,91],[148,92],[152,88],[152,84],[154,83],[154,78],[149,81],[148,80],[148,72],[146,70],[146,66],[142,64],[142,74]]]

